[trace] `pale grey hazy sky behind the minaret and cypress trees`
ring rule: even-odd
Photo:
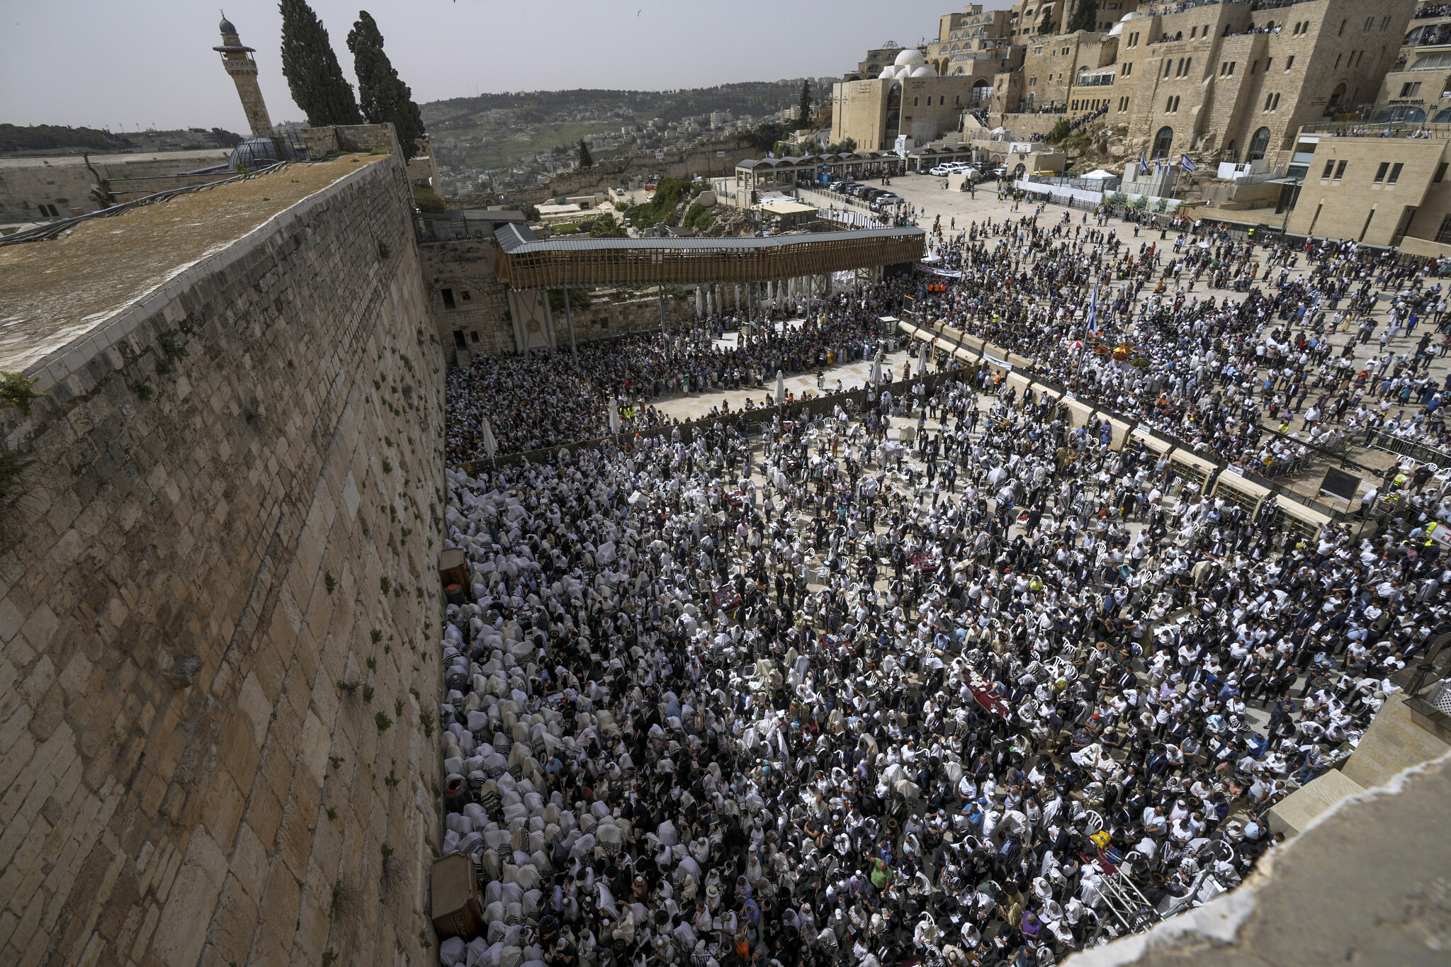
[[[1006,0],[990,0],[1006,7]],[[826,77],[884,41],[936,36],[948,0],[312,0],[348,80],[347,35],[377,20],[419,103],[479,91],[662,90]],[[281,75],[274,0],[232,0],[257,48],[273,120],[303,120]],[[212,46],[218,10],[189,0],[3,0],[0,122],[91,128],[228,128],[245,133],[237,90]]]

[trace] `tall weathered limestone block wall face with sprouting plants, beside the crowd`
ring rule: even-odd
[[[443,352],[406,199],[396,157],[353,171],[4,410],[35,462],[0,512],[0,963],[434,963]]]

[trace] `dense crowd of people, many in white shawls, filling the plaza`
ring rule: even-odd
[[[480,416],[503,449],[604,436],[611,393],[810,370],[907,296],[1080,399],[1258,460],[1287,442],[1268,407],[1383,415],[1331,344],[1367,283],[1403,286],[1402,325],[1439,299],[1347,246],[1032,217],[933,238],[945,291],[842,296],[736,357],[708,320],[450,377],[445,547],[469,577],[441,642],[443,851],[474,858],[482,928],[444,964],[1056,963],[1238,884],[1280,847],[1267,812],[1451,631],[1428,539],[1451,497],[1425,468],[1387,480],[1374,529],[1312,535],[988,368],[829,419],[788,406],[759,439],[737,410],[466,464]]]

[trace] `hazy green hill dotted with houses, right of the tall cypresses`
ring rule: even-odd
[[[681,120],[730,112],[762,117],[795,109],[801,80],[746,81],[670,91],[576,88],[563,91],[511,91],[453,97],[422,104],[424,126],[437,146],[457,139],[457,148],[440,155],[480,168],[506,168],[528,154],[572,148],[580,138],[647,125],[651,119]],[[811,78],[814,96],[820,83]],[[621,148],[622,149],[622,148]],[[614,152],[602,152],[607,157]]]

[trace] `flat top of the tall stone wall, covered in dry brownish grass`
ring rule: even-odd
[[[385,158],[292,164],[80,222],[51,241],[0,246],[0,370],[25,371],[273,216]]]

